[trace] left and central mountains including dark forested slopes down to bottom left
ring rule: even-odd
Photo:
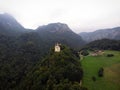
[[[0,14],[0,90],[18,90],[24,77],[57,42],[74,49],[85,43],[66,24],[52,23],[31,30],[11,15]]]

